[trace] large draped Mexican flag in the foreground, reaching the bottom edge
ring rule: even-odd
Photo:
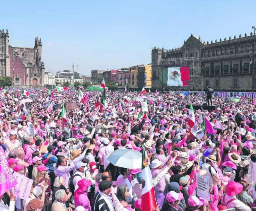
[[[141,193],[141,211],[155,211],[156,209],[156,198],[155,191],[153,187],[153,179],[150,172],[150,168],[148,166],[148,156],[142,144],[142,165],[141,165],[141,174],[142,174],[142,184],[144,183],[144,187],[142,186]]]

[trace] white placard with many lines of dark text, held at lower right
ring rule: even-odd
[[[210,201],[209,178],[200,174],[197,174],[197,195]]]

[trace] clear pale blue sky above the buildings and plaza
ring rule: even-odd
[[[3,1],[0,28],[9,44],[42,38],[46,69],[118,69],[151,62],[151,46],[172,49],[191,33],[206,41],[242,36],[256,25],[256,1]],[[254,13],[254,15],[253,15]]]

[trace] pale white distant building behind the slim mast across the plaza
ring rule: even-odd
[[[56,84],[63,85],[64,82],[68,81],[73,86],[73,72],[70,70],[58,71],[55,76]],[[79,72],[74,72],[74,82],[83,83],[83,78]]]

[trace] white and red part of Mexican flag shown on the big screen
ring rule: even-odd
[[[189,67],[168,68],[167,86],[189,86],[189,81]]]

